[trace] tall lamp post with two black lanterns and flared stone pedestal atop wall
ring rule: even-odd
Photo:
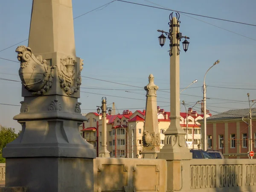
[[[186,39],[189,37],[182,36],[180,33],[180,14],[173,13],[169,15],[169,32],[163,30],[157,30],[161,32],[159,38],[159,44],[161,47],[165,44],[166,37],[163,35],[165,33],[169,39],[170,43],[170,116],[171,120],[169,128],[165,131],[164,146],[160,149],[157,154],[157,158],[166,160],[189,160],[192,158],[191,153],[186,147],[185,141],[185,131],[180,126],[180,40],[185,38],[183,41],[183,49],[186,52],[189,47],[189,42]],[[172,143],[171,138],[175,138],[180,142]],[[179,155],[181,154],[182,155]],[[167,186],[167,190],[172,190],[171,184]]]

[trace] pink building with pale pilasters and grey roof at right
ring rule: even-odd
[[[256,108],[252,108],[251,113],[253,151],[256,153],[256,127],[253,126],[256,125]],[[207,150],[223,151],[224,157],[228,159],[247,159],[250,140],[249,116],[250,109],[238,109],[207,117]],[[203,134],[203,119],[198,122]]]

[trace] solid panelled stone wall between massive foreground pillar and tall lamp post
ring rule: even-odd
[[[166,192],[166,160],[96,158],[94,192]]]

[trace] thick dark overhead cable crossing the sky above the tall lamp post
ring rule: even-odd
[[[188,13],[188,12],[180,12],[180,11],[173,10],[173,9],[166,9],[166,8],[160,8],[160,7],[155,7],[155,6],[149,6],[149,5],[145,5],[145,4],[133,3],[133,2],[124,1],[124,0],[117,0],[117,1],[125,2],[125,3],[131,3],[131,4],[135,4],[135,5],[140,5],[140,6],[151,7],[151,8],[156,8],[156,9],[163,9],[163,10],[168,10],[168,11],[173,11],[173,12],[179,12],[179,13],[184,13],[184,14],[188,14],[188,15],[195,15],[195,16],[199,16],[199,17],[206,17],[206,18],[210,18],[210,19],[223,20],[223,21],[228,21],[228,22],[232,22],[232,23],[239,23],[239,24],[244,24],[244,25],[256,26],[256,25],[250,24],[250,23],[243,23],[243,22],[221,19],[221,18],[216,18],[216,17],[209,17],[209,16],[205,16],[205,15],[198,15],[198,14]]]

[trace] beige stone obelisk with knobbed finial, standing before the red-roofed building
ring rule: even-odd
[[[155,159],[160,149],[160,134],[158,131],[157,118],[157,90],[158,86],[154,84],[154,76],[148,77],[148,85],[144,87],[146,94],[146,113],[145,125],[143,131],[143,151],[142,158]]]

